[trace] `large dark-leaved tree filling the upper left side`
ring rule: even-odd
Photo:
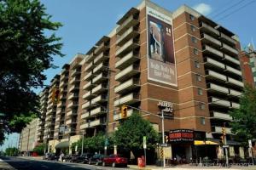
[[[38,96],[32,88],[43,87],[43,71],[54,68],[53,56],[61,54],[61,38],[38,0],[0,2],[0,128],[20,132],[26,117],[38,113]],[[17,117],[24,117],[19,119]],[[16,124],[17,122],[17,124]],[[4,133],[0,133],[0,144]]]

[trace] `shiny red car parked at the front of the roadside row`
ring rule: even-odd
[[[107,165],[111,165],[112,167],[116,167],[117,165],[127,167],[127,158],[120,155],[110,155],[103,158],[102,166]]]

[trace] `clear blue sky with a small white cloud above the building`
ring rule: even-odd
[[[175,11],[183,4],[195,8],[201,14],[218,22],[221,26],[236,33],[245,47],[252,39],[256,43],[255,0],[151,0],[163,8]],[[44,71],[49,85],[50,80],[61,72],[61,67],[69,63],[75,54],[85,54],[102,36],[108,35],[116,26],[116,22],[132,7],[137,7],[142,0],[41,0],[46,12],[52,15],[52,21],[62,23],[55,32],[62,37],[62,53],[65,57],[54,57],[57,69]],[[41,88],[34,90],[36,93]],[[16,134],[11,134],[9,140],[1,148],[13,143]]]

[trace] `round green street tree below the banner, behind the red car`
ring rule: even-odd
[[[138,113],[133,113],[113,133],[113,140],[119,149],[131,150],[138,157],[143,155],[143,136],[147,138],[147,149],[154,150],[159,139],[158,133],[150,122]]]

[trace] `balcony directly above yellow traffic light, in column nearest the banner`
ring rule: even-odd
[[[118,105],[132,105],[134,103],[140,102],[140,97],[139,94],[136,93],[131,93],[131,94],[127,94],[123,97],[119,97],[119,99],[116,99],[113,102],[114,106],[118,106]]]

